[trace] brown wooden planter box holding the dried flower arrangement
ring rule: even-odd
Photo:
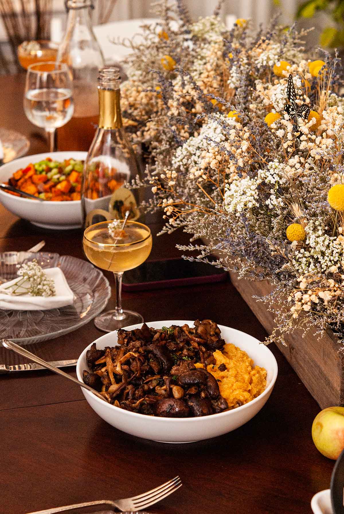
[[[234,287],[271,334],[275,327],[273,313],[266,309],[263,302],[252,298],[254,295],[266,295],[271,290],[269,283],[238,280],[236,273],[230,273],[230,277]],[[308,333],[302,338],[301,331],[294,331],[285,338],[287,346],[278,344],[278,348],[321,409],[344,405],[344,355],[340,351],[342,345],[330,329],[323,337],[318,337]]]

